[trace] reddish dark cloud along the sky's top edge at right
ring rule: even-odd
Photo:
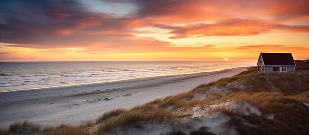
[[[103,0],[137,6],[136,16],[165,22],[194,22],[252,16],[309,16],[309,0]]]

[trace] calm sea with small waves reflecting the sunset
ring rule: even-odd
[[[0,62],[0,92],[218,71],[252,61]]]

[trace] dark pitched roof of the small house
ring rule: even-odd
[[[261,53],[264,65],[295,65],[291,53]]]

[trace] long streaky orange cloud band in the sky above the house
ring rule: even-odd
[[[212,24],[191,24],[183,27],[157,26],[172,29],[173,31],[170,33],[175,36],[170,37],[171,39],[202,36],[249,36],[265,34],[272,31],[309,32],[309,26],[289,26],[260,19],[237,18],[222,20]]]

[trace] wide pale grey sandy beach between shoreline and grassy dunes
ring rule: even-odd
[[[42,126],[81,124],[106,111],[186,92],[246,68],[0,93],[0,128],[18,120]]]

